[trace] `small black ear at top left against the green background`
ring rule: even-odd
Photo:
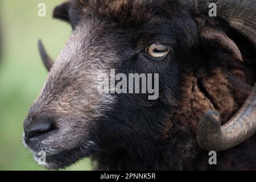
[[[53,10],[53,18],[64,20],[65,22],[70,22],[69,9],[71,8],[71,1],[62,3],[56,6]]]

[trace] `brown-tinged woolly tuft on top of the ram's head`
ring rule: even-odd
[[[118,23],[142,23],[156,16],[182,15],[179,3],[167,0],[76,0],[73,8]]]

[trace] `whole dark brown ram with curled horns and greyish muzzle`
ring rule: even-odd
[[[255,169],[256,1],[214,1],[217,18],[204,14],[209,2],[57,6],[73,31],[54,64],[39,42],[49,75],[23,135],[35,160],[44,151],[52,169],[89,156],[105,170]],[[98,93],[110,69],[158,73],[159,97]],[[220,151],[217,165],[207,150]]]

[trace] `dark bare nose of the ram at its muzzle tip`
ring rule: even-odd
[[[39,119],[28,122],[28,119],[24,120],[24,134],[26,140],[32,140],[41,137],[54,130],[53,122],[50,119]]]

